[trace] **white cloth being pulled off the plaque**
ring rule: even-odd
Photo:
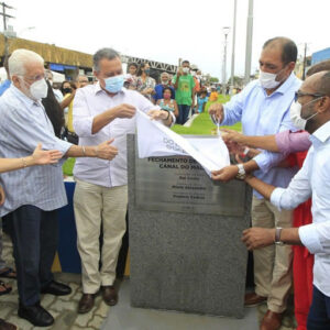
[[[140,158],[189,155],[209,176],[211,170],[230,165],[229,152],[221,136],[185,139],[140,110],[136,113],[136,127]]]

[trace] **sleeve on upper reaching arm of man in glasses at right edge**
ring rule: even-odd
[[[294,209],[311,196],[308,156],[302,168],[295,175],[287,188],[276,188],[271,195],[271,202],[280,209]]]

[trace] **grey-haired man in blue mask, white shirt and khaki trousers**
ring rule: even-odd
[[[78,312],[88,312],[95,294],[101,288],[106,304],[113,306],[118,294],[113,287],[116,265],[125,232],[128,204],[127,134],[135,132],[136,109],[170,125],[175,118],[161,110],[135,90],[123,87],[119,54],[102,48],[94,55],[96,85],[78,89],[74,101],[74,129],[79,144],[95,144],[114,139],[119,153],[113,162],[78,160],[74,176],[77,182],[74,208],[78,251],[82,264],[82,296]],[[152,139],[152,136],[151,136]],[[99,237],[103,242],[100,255]],[[101,270],[99,260],[101,258]]]

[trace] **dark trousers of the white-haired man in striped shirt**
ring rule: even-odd
[[[57,249],[57,210],[43,211],[22,206],[3,217],[13,243],[20,304],[40,301],[40,290],[52,279],[52,265]]]

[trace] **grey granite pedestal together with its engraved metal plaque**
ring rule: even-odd
[[[139,160],[134,135],[128,164],[131,305],[242,318],[251,189],[189,157]]]

